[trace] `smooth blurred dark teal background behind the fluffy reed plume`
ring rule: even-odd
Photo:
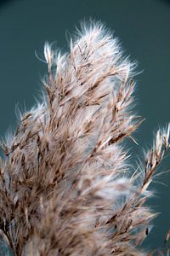
[[[79,21],[102,20],[120,38],[126,55],[138,61],[136,107],[146,118],[131,143],[135,163],[152,143],[153,131],[170,121],[170,3],[163,0],[11,0],[0,2],[0,136],[16,125],[15,108],[35,104],[46,66],[45,41],[68,50],[68,35]],[[142,155],[142,154],[141,154]],[[170,169],[170,154],[158,172]],[[165,183],[161,184],[161,183]],[[167,186],[166,186],[167,185]],[[161,247],[170,229],[170,172],[156,178],[149,203],[161,215],[145,242]]]

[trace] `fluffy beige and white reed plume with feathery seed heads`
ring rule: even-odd
[[[3,241],[20,256],[148,255],[139,245],[156,213],[145,201],[170,126],[129,177],[122,141],[141,122],[132,111],[135,65],[100,23],[83,25],[70,53],[46,43],[44,56],[43,101],[2,143]]]

